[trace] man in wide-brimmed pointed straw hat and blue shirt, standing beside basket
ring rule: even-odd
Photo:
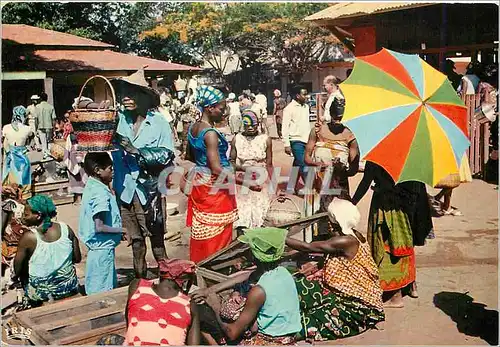
[[[146,237],[150,238],[155,259],[167,258],[158,176],[173,165],[172,129],[157,110],[160,96],[149,87],[144,68],[128,77],[113,79],[111,83],[121,100],[116,131],[119,151],[112,153],[113,185],[123,227],[132,242],[135,275],[144,278]]]

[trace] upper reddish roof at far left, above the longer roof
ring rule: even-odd
[[[25,24],[2,24],[2,39],[35,46],[114,47],[108,43]]]

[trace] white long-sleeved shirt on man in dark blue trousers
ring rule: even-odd
[[[290,147],[290,141],[307,143],[310,132],[309,105],[301,105],[292,100],[283,110],[282,133],[285,147]]]

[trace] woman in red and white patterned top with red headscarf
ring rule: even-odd
[[[144,279],[130,283],[125,345],[200,344],[198,310],[194,301],[186,296],[194,271],[195,264],[191,261],[161,259],[158,284]]]

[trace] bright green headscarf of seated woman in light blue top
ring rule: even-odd
[[[238,237],[247,243],[255,258],[263,263],[279,260],[285,250],[286,229],[255,228],[245,230],[245,234]]]

